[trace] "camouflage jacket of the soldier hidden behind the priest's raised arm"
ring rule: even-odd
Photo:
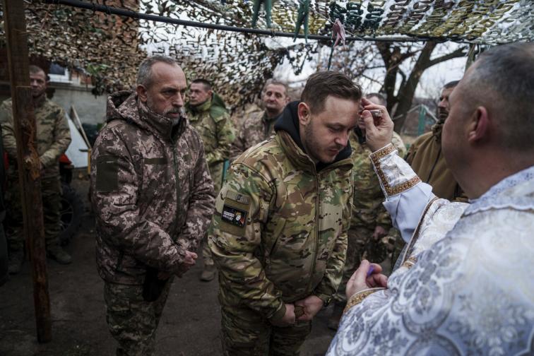
[[[398,149],[399,155],[403,157],[406,148],[401,136],[393,132],[391,142]],[[361,131],[352,132],[350,146],[352,146],[352,161],[354,162],[352,169],[354,199],[350,227],[367,227],[374,230],[374,227],[379,225],[387,231],[391,227],[391,219],[382,205],[384,194],[374,172],[371,158],[369,158],[372,151],[367,147]]]

